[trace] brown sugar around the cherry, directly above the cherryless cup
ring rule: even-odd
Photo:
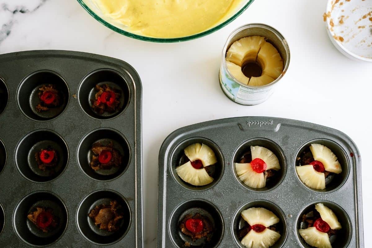
[[[92,146],[92,151],[94,155],[92,156],[90,167],[92,167],[93,170],[108,170],[112,167],[119,167],[122,165],[122,155],[118,150],[113,148],[112,142],[110,142],[106,146],[101,144],[100,142],[96,142]],[[101,163],[99,161],[99,156],[102,152],[109,152],[111,154],[111,159],[108,161],[108,163]]]

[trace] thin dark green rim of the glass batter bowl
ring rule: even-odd
[[[111,25],[110,23],[106,22],[101,17],[99,17],[96,13],[94,13],[93,10],[91,10],[83,2],[83,0],[77,0],[77,1],[78,1],[78,3],[80,3],[81,6],[83,6],[83,8],[91,16],[94,17],[94,19],[96,19],[97,21],[99,21],[100,23],[102,23],[103,25],[105,25],[106,27],[114,30],[115,32],[121,33],[122,35],[125,35],[125,36],[128,36],[128,37],[132,37],[132,38],[138,39],[138,40],[144,40],[144,41],[150,41],[150,42],[159,42],[159,43],[170,43],[170,42],[182,42],[182,41],[186,41],[186,40],[197,39],[197,38],[200,38],[200,37],[209,35],[209,34],[215,32],[215,31],[221,29],[222,27],[228,25],[230,22],[232,22],[233,20],[235,20],[238,16],[240,16],[240,14],[243,13],[244,10],[246,10],[253,3],[254,0],[249,0],[248,3],[243,8],[241,8],[237,13],[235,13],[232,17],[230,17],[225,22],[223,22],[223,23],[221,23],[221,24],[219,24],[219,25],[217,25],[217,26],[215,26],[215,27],[213,27],[211,29],[208,29],[208,30],[206,30],[204,32],[201,32],[201,33],[197,33],[196,35],[190,35],[190,36],[185,36],[185,37],[180,37],[180,38],[168,38],[168,39],[148,37],[148,36],[142,36],[142,35],[135,35],[134,33],[127,32],[127,31],[124,31],[122,29],[119,29],[118,27],[115,27],[115,26]]]

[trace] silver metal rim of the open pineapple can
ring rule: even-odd
[[[233,75],[231,75],[231,73],[230,73],[230,71],[228,69],[226,70],[226,72],[227,72],[227,74],[231,78],[235,79],[235,81],[240,86],[243,86],[245,88],[250,88],[250,89],[264,89],[264,88],[269,88],[269,87],[272,87],[274,84],[276,84],[284,76],[284,74],[286,74],[286,72],[288,70],[288,67],[289,67],[289,61],[291,60],[291,52],[289,50],[289,45],[288,45],[287,40],[285,39],[285,37],[278,30],[276,30],[272,26],[269,26],[269,25],[266,25],[266,24],[263,24],[263,23],[250,23],[250,24],[246,24],[246,25],[240,26],[237,29],[235,29],[234,31],[232,31],[232,33],[227,38],[227,41],[226,41],[226,43],[224,45],[224,49],[222,50],[222,65],[225,68],[227,68],[227,65],[226,65],[226,53],[227,53],[228,45],[230,43],[231,38],[234,37],[238,32],[241,32],[242,30],[248,29],[248,28],[251,28],[251,27],[262,27],[264,29],[267,29],[267,30],[272,31],[276,36],[279,37],[280,40],[282,40],[283,45],[286,46],[286,48],[287,48],[286,50],[288,50],[288,54],[287,54],[287,61],[283,65],[284,67],[283,67],[282,74],[280,74],[280,76],[277,79],[275,79],[273,82],[271,82],[270,84],[263,85],[263,86],[250,86],[250,85],[241,83],[237,78],[235,78]]]

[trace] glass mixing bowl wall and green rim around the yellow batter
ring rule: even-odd
[[[118,23],[109,20],[109,18],[105,17],[100,10],[95,6],[92,0],[77,0],[81,6],[91,14],[97,21],[109,27],[110,29],[114,30],[115,32],[121,33],[122,35],[126,35],[128,37],[132,37],[139,40],[151,41],[151,42],[181,42],[186,40],[196,39],[205,35],[209,35],[222,27],[226,26],[228,23],[232,22],[235,18],[237,18],[241,13],[246,10],[254,0],[242,0],[241,3],[233,10],[230,14],[225,16],[219,23],[210,27],[208,30],[205,30],[201,33],[196,33],[195,35],[184,36],[184,37],[177,37],[177,38],[158,38],[158,37],[150,37],[137,34],[135,32],[131,32],[128,27],[124,25],[119,25]]]

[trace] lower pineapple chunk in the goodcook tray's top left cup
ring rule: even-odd
[[[204,186],[213,182],[213,177],[210,177],[204,168],[195,169],[192,167],[190,161],[178,166],[176,168],[176,172],[182,180],[190,183],[191,185]]]

